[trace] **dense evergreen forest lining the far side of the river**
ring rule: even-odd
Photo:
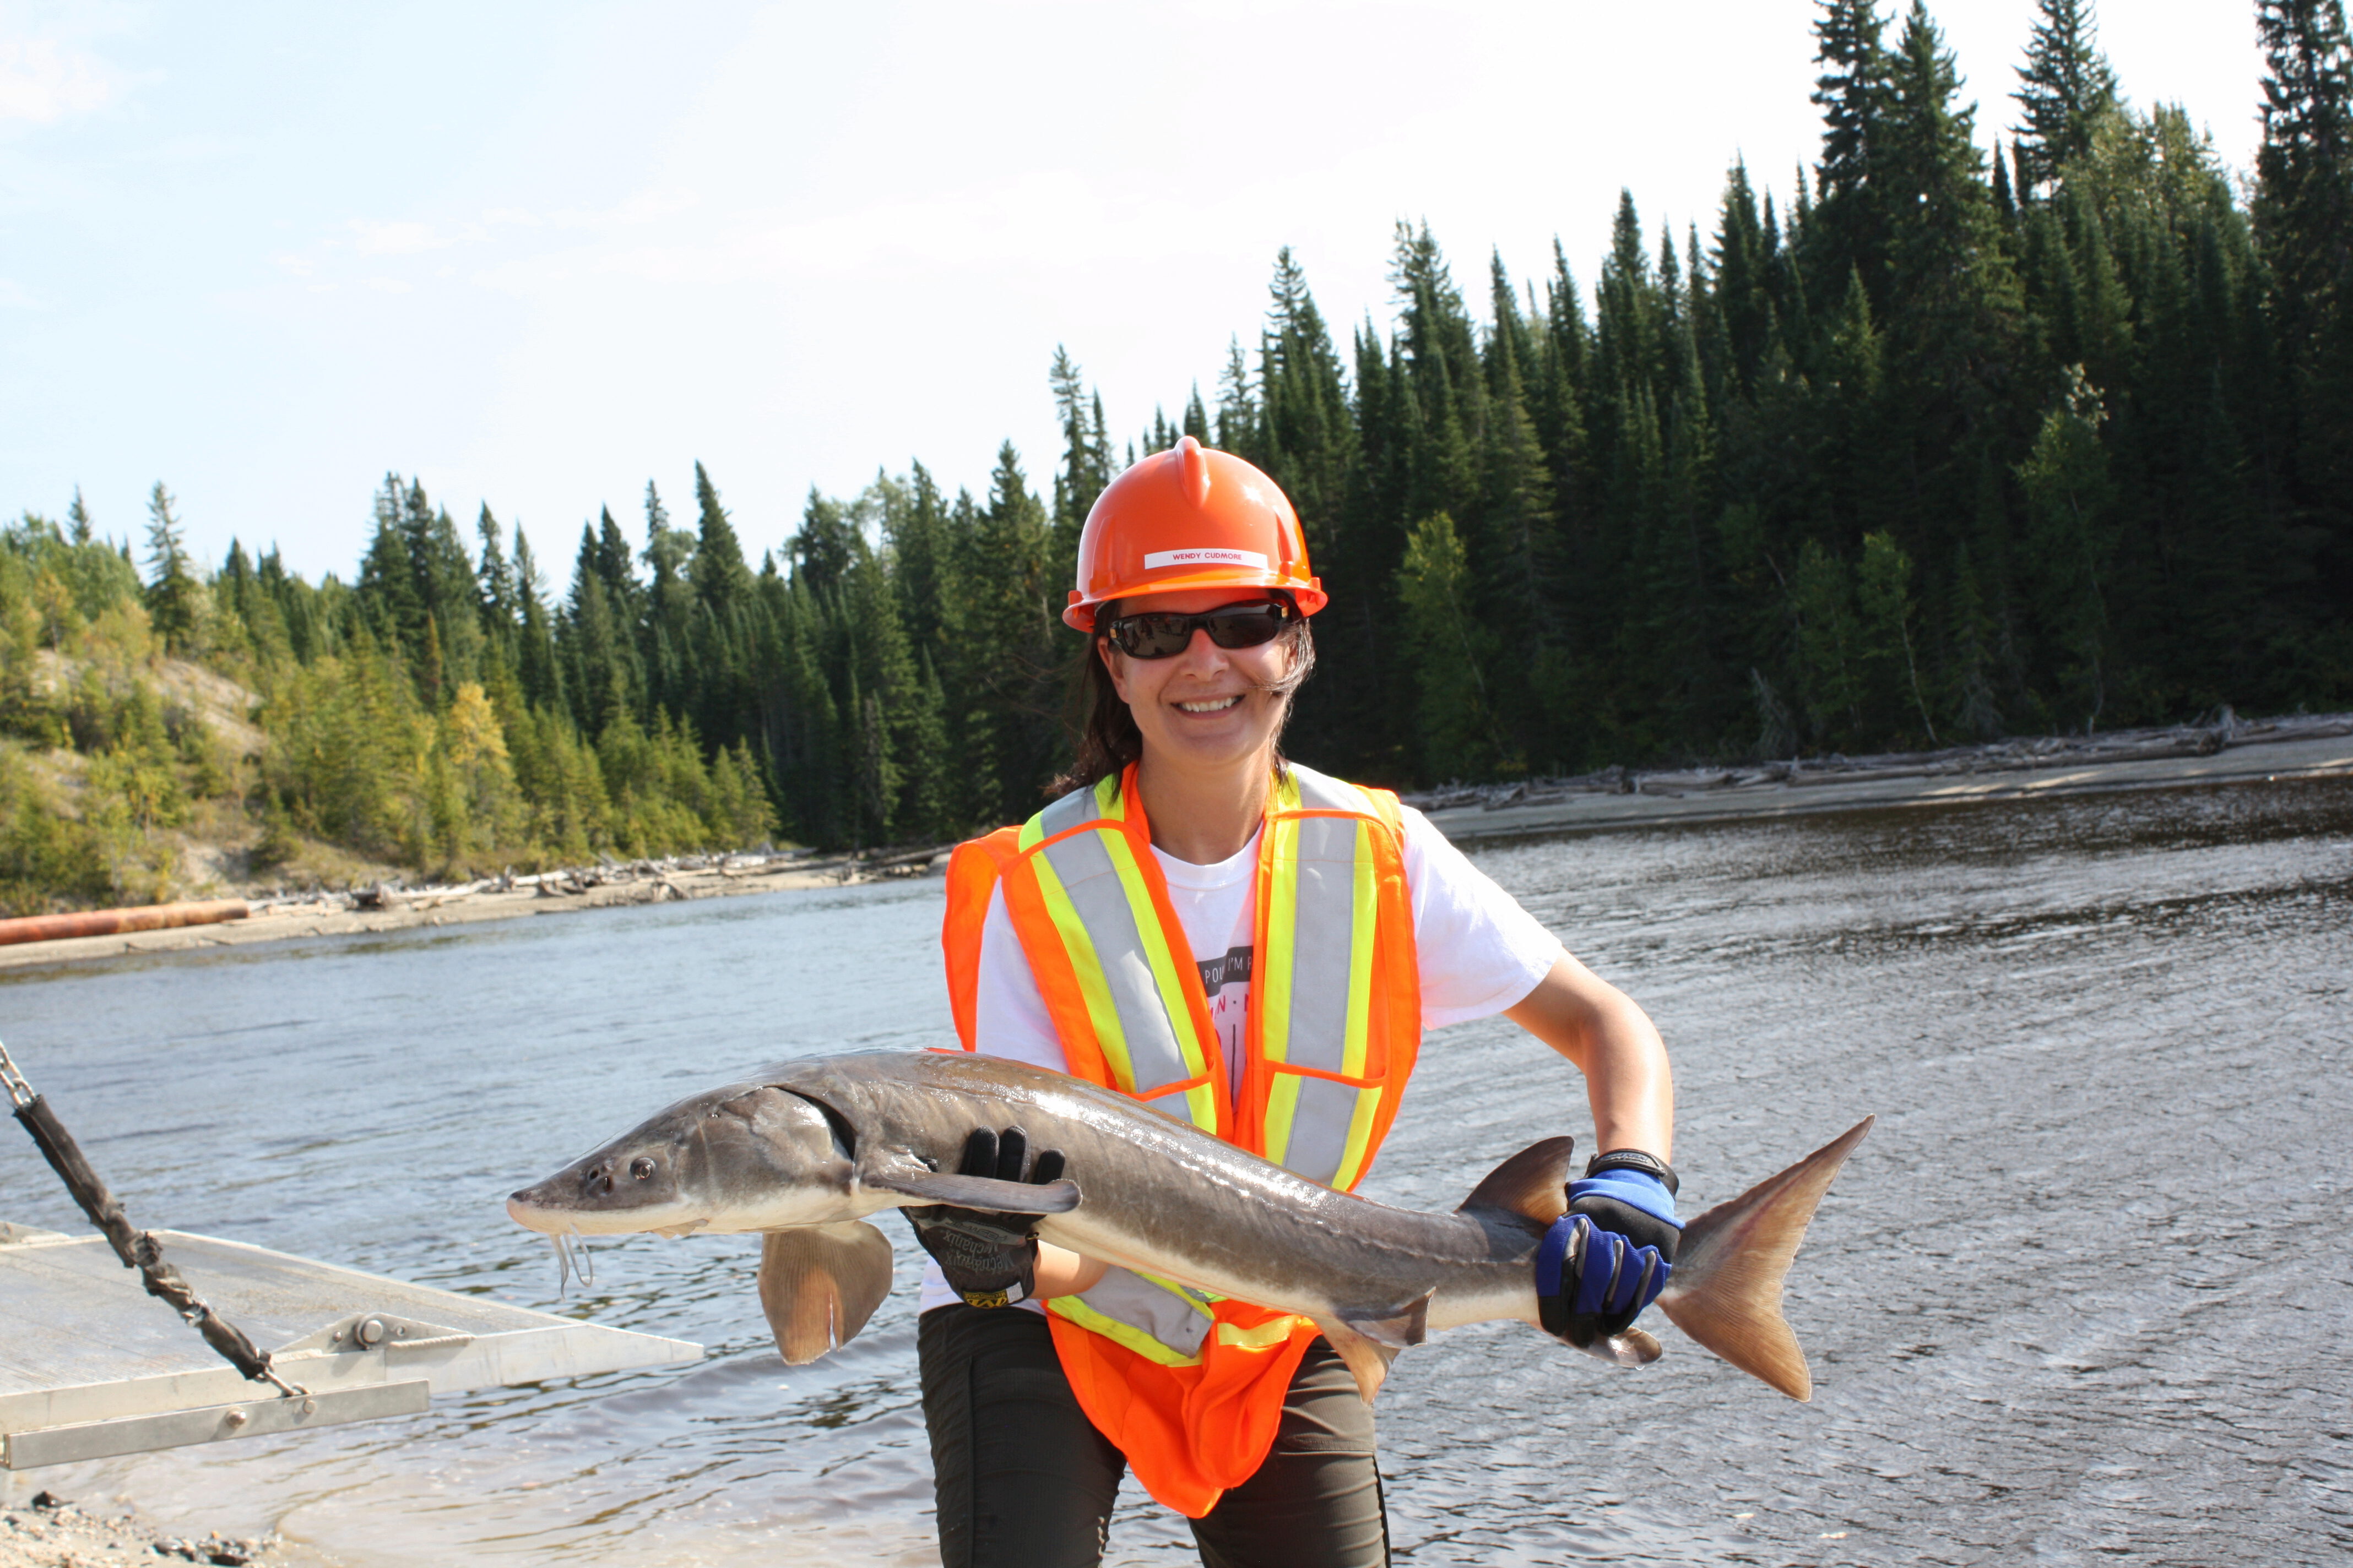
[[[28,512],[0,907],[169,896],[191,844],[482,875],[1026,818],[1080,524],[1181,433],[1299,505],[1332,607],[1285,748],[1367,783],[2348,705],[2353,49],[2341,0],[2252,26],[2233,172],[2087,0],[2038,0],[1984,106],[1922,2],[1824,0],[1819,162],[1734,162],[1711,223],[1628,193],[1588,275],[1539,277],[1400,223],[1393,317],[1339,334],[1285,249],[1174,421],[1115,440],[1056,350],[1052,473],[878,473],[772,545],[701,465],[536,548],[386,477],[318,583],[191,559],[162,484],[136,538]]]

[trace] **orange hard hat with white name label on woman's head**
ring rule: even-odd
[[[1186,435],[1094,498],[1061,618],[1092,632],[1096,604],[1193,588],[1280,588],[1301,616],[1329,599],[1308,574],[1308,541],[1282,487]]]

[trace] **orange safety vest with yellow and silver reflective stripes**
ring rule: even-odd
[[[965,1048],[979,1048],[981,924],[1002,884],[1073,1074],[1353,1190],[1421,1048],[1398,797],[1299,766],[1271,792],[1245,1063],[1231,1091],[1151,842],[1129,764],[1021,827],[958,844],[941,945]],[[1315,1338],[1304,1316],[1118,1267],[1045,1307],[1080,1408],[1136,1481],[1191,1519],[1266,1460]]]

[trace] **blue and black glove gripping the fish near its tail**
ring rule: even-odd
[[[1544,1331],[1579,1347],[1626,1333],[1666,1288],[1680,1239],[1675,1171],[1642,1150],[1595,1154],[1537,1248]]]

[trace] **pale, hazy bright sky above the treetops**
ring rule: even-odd
[[[2111,5],[2139,106],[2252,167],[2252,0]],[[1932,0],[1991,143],[2033,0]],[[1393,320],[1400,221],[1466,294],[1621,188],[1708,233],[1744,158],[1812,165],[1812,0],[1485,5],[0,0],[0,517],[348,578],[386,473],[555,571],[708,465],[751,552],[812,487],[1059,456],[1068,348],[1115,449],[1228,341],[1275,252]]]

